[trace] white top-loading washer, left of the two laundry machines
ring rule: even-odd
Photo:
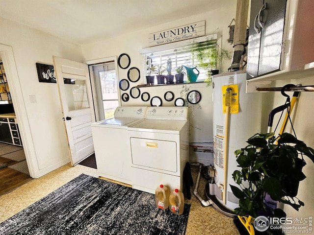
[[[147,107],[117,107],[114,118],[92,123],[99,176],[131,184],[130,147],[127,128],[143,121]]]

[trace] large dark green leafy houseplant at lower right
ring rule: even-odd
[[[296,198],[299,182],[306,178],[302,172],[306,164],[303,155],[314,162],[314,149],[288,133],[278,138],[274,133],[258,133],[247,143],[246,147],[235,151],[240,167],[233,173],[239,188],[231,185],[234,195],[239,198],[239,208],[235,209],[235,213],[256,218],[259,213],[267,211],[263,203],[266,193],[271,199],[298,211],[304,206]],[[275,209],[275,216],[284,214],[281,209]]]

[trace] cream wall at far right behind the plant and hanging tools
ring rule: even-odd
[[[294,80],[278,80],[274,81],[272,86],[282,87],[286,84],[302,84],[302,86],[313,86],[314,85],[314,76],[303,78],[303,79],[294,79]],[[287,94],[292,96],[292,92],[287,92]],[[293,123],[296,136],[299,140],[304,141],[309,147],[314,148],[314,93],[313,92],[302,92],[299,96],[297,103],[295,104],[291,119]],[[280,92],[267,92],[263,94],[263,123],[264,132],[266,132],[267,121],[269,112],[286,102],[286,97],[281,95]],[[277,114],[273,122],[273,131],[278,122],[280,114]],[[281,122],[279,124],[279,130],[281,128]],[[285,132],[293,134],[291,130],[291,125],[288,123]],[[278,131],[276,131],[278,133]],[[292,207],[285,205],[284,210],[287,213],[288,217],[292,218],[305,218],[313,216],[314,211],[314,163],[307,157],[304,156],[306,161],[306,166],[303,168],[303,173],[307,178],[300,182],[297,198],[304,202],[305,206],[301,207],[299,211],[295,211]]]

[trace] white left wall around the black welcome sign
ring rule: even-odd
[[[36,62],[52,65],[52,55],[83,61],[81,48],[2,18],[0,31],[0,44],[13,48],[18,71],[14,79],[18,79],[22,94],[12,95],[12,99],[25,106],[26,113],[18,121],[21,127],[29,125],[24,147],[27,163],[33,166],[33,177],[37,178],[69,163],[70,158],[57,85],[38,81]],[[31,103],[29,95],[35,95],[37,102]]]

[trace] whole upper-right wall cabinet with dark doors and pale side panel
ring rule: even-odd
[[[263,80],[314,74],[314,1],[254,0],[251,5],[247,72]]]

